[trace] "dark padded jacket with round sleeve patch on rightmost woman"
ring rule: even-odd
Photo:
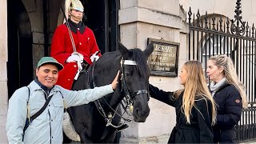
[[[222,86],[214,94],[217,103],[217,123],[214,128],[214,142],[234,143],[237,141],[235,125],[242,114],[242,98],[239,91],[230,84]]]

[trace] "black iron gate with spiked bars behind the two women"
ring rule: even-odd
[[[219,14],[201,16],[188,12],[190,33],[188,37],[190,60],[202,62],[206,70],[208,58],[227,54],[234,61],[240,81],[246,86],[248,109],[243,110],[238,123],[238,141],[256,138],[256,32],[248,22],[242,22],[241,0],[238,0],[234,20]],[[195,18],[196,17],[196,18]]]

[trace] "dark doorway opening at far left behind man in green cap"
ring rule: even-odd
[[[22,0],[7,1],[8,97],[33,79],[32,34],[30,18]]]

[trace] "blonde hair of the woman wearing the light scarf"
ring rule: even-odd
[[[234,69],[234,63],[232,59],[226,56],[226,54],[218,54],[210,57],[209,60],[214,62],[214,65],[223,68],[224,76],[227,82],[238,89],[242,98],[242,107],[246,109],[248,103],[246,100],[245,86],[238,79],[238,74]]]

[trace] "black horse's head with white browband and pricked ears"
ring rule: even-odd
[[[122,54],[121,82],[122,90],[129,95],[133,105],[135,122],[145,122],[150,114],[149,101],[149,77],[150,69],[146,63],[147,58],[153,52],[153,44],[150,43],[146,50],[127,50],[119,42],[118,50]]]

